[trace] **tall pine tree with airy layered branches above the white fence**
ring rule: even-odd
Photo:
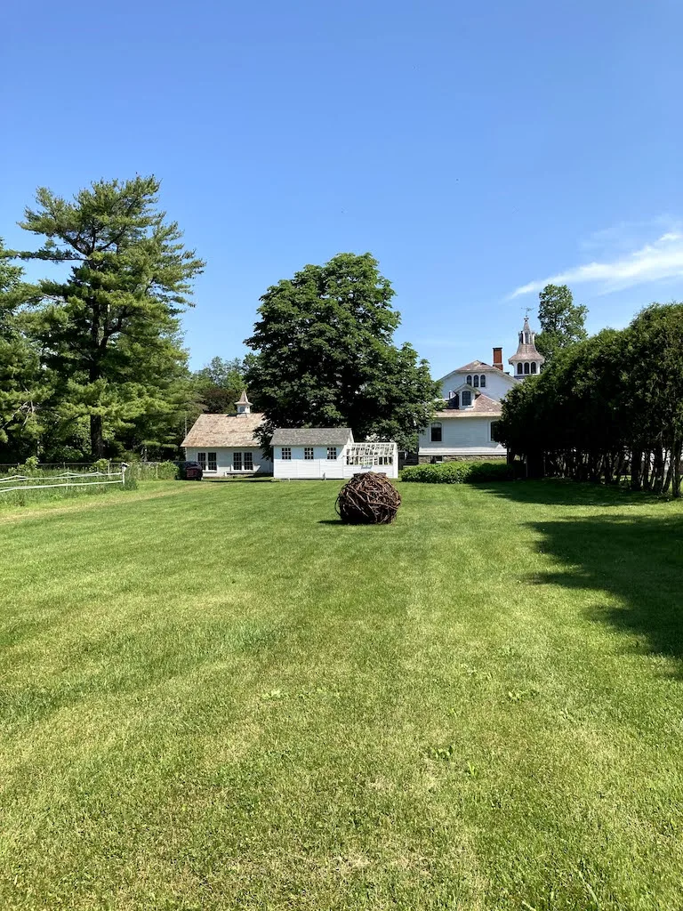
[[[172,425],[181,407],[169,382],[186,370],[178,314],[204,263],[158,210],[158,189],[139,176],[99,180],[73,201],[41,188],[21,222],[46,242],[19,256],[74,263],[61,281],[36,285],[30,332],[70,417],[87,416],[96,458],[136,427],[143,443],[146,427],[158,442],[159,424]]]

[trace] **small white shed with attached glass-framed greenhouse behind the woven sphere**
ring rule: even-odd
[[[396,444],[354,443],[350,427],[279,427],[271,445],[275,477],[332,480],[365,471],[398,477]]]

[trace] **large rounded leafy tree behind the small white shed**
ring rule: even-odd
[[[250,396],[268,427],[343,426],[413,445],[439,394],[426,361],[396,347],[400,314],[370,253],[307,265],[261,297],[246,340]]]

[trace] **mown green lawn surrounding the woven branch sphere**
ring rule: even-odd
[[[683,907],[683,507],[141,485],[0,514],[0,907]]]

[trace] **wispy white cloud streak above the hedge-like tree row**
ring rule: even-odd
[[[661,221],[659,221],[661,224]],[[659,228],[661,230],[661,227]],[[637,249],[606,256],[601,261],[574,266],[544,279],[529,281],[516,288],[510,297],[538,292],[546,284],[596,284],[597,292],[607,294],[647,281],[683,277],[683,229],[671,224],[669,230],[655,241],[643,243]]]

